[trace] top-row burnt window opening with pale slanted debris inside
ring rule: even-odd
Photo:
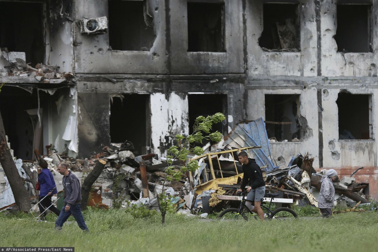
[[[263,4],[264,30],[259,45],[268,50],[300,49],[298,5],[291,3]]]

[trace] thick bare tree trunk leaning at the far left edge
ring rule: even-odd
[[[3,118],[0,113],[0,164],[3,166],[5,176],[9,181],[11,190],[14,196],[16,205],[19,207],[20,211],[28,213],[31,204],[29,201],[28,191],[24,186],[17,167],[12,158],[11,152],[9,151],[8,143],[5,138],[5,129],[3,124]]]

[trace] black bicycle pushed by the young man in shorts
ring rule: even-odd
[[[258,218],[257,214],[253,213],[245,205],[245,202],[249,201],[248,199],[246,199],[246,195],[248,194],[247,191],[243,191],[243,192],[238,193],[239,196],[241,194],[242,194],[243,197],[242,197],[242,200],[240,202],[239,208],[227,208],[227,209],[223,210],[223,212],[221,212],[218,215],[218,219],[241,219],[240,216],[242,216],[243,219],[248,221],[249,218],[246,215],[247,212],[249,212],[251,215],[254,215],[255,218]],[[265,210],[267,210],[266,211],[266,214],[267,214],[266,218],[268,218],[268,219],[279,219],[279,220],[298,218],[298,215],[296,214],[296,212],[294,212],[293,210],[291,210],[288,207],[280,207],[280,208],[277,208],[276,210],[272,211],[270,209],[272,201],[273,201],[274,197],[277,197],[279,195],[279,193],[266,193],[266,195],[271,197],[268,207],[261,204],[261,208],[263,208],[263,212],[265,213],[264,208],[265,208]],[[261,202],[262,201],[263,200],[261,200]],[[249,202],[253,202],[253,201],[249,201]]]

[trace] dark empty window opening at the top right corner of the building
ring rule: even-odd
[[[337,51],[372,52],[371,5],[338,5]]]

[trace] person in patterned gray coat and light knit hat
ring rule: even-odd
[[[333,187],[332,181],[336,179],[336,176],[336,171],[330,169],[320,180],[322,185],[320,187],[318,207],[323,217],[328,218],[333,215],[331,208],[335,208],[335,187]]]

